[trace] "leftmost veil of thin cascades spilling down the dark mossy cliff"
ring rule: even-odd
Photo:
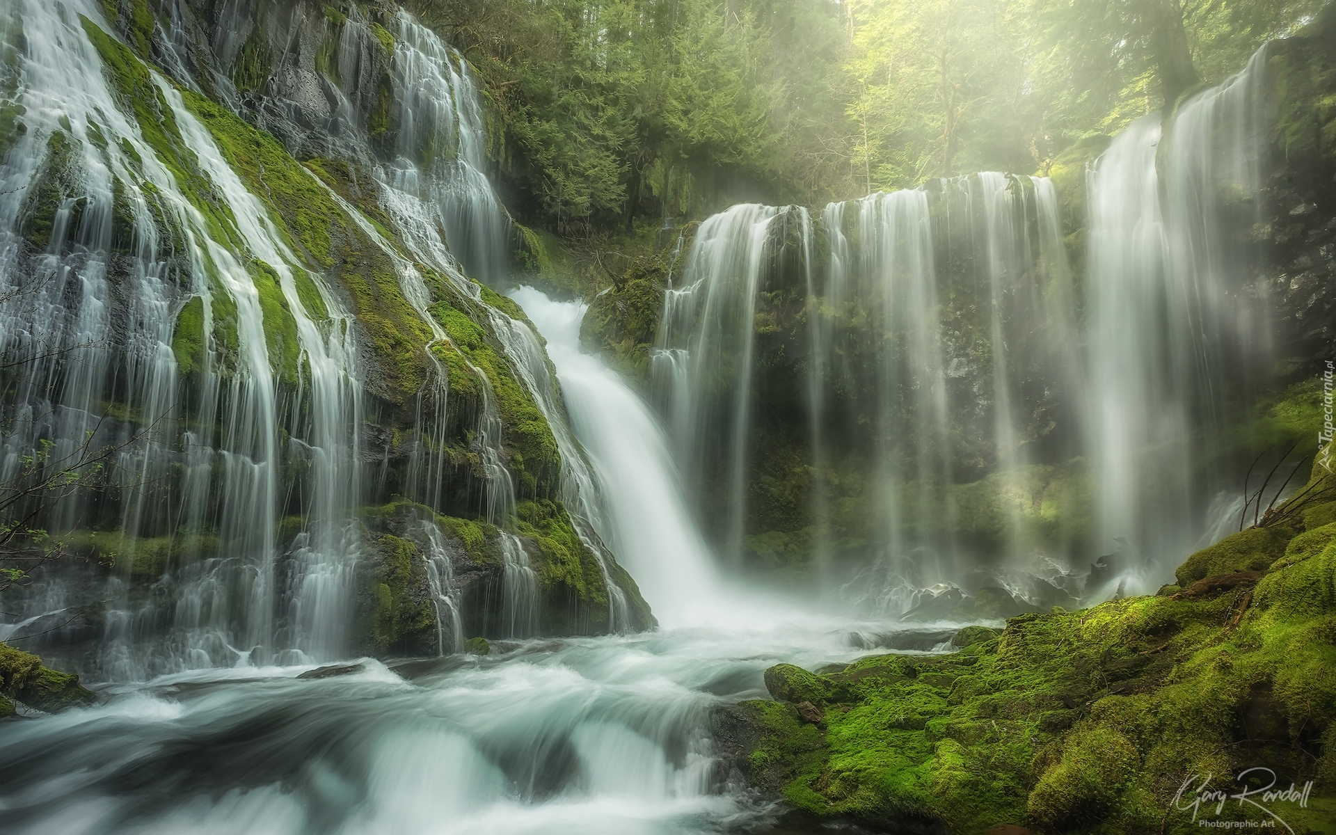
[[[349,315],[318,275],[295,266],[174,88],[155,77],[174,128],[219,195],[212,215],[122,112],[77,19],[40,4],[24,4],[21,17],[28,47],[20,96],[31,127],[5,166],[4,342],[27,362],[5,415],[17,432],[7,437],[4,474],[13,478],[25,450],[43,440],[53,445],[51,466],[80,444],[120,442],[123,533],[103,534],[119,541],[118,565],[134,565],[146,550],[180,549],[182,587],[166,632],[156,627],[156,604],[112,577],[104,673],[143,677],[231,663],[257,648],[337,652],[346,620],[339,600],[357,548],[347,526],[359,420]],[[39,174],[63,178],[67,196],[45,251],[25,261],[21,235],[32,235],[35,210],[21,195]],[[116,206],[126,208],[116,215]],[[202,342],[188,374],[172,351],[178,314],[196,323]],[[266,319],[274,315],[290,318],[295,345],[270,343]],[[275,371],[286,375],[290,397],[279,398]],[[313,520],[286,581],[275,564],[287,501],[281,470],[294,473],[302,514]],[[76,493],[56,518],[77,532],[106,512]],[[72,595],[53,581],[45,603],[87,603]],[[278,632],[278,623],[287,627]]]

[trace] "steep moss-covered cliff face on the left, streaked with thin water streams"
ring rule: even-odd
[[[27,500],[81,557],[25,592],[77,612],[39,644],[98,668],[120,640],[143,675],[234,641],[652,625],[570,486],[588,464],[538,337],[478,281],[508,271],[510,227],[454,52],[391,5],[16,20],[7,429],[116,464]],[[61,61],[87,95],[48,98]]]

